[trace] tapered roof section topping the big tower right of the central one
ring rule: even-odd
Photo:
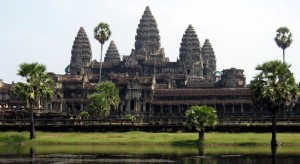
[[[200,41],[192,25],[189,25],[183,34],[179,58],[182,61],[191,60],[193,62],[201,59]]]

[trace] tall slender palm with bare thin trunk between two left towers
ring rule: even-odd
[[[101,71],[102,71],[102,50],[103,44],[109,39],[111,31],[107,23],[99,23],[94,29],[94,38],[101,44],[101,55],[100,55],[100,68],[99,68],[99,83],[101,82]]]

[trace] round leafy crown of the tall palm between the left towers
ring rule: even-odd
[[[107,23],[101,22],[94,29],[94,38],[98,40],[100,44],[104,44],[109,39],[110,35],[111,31]]]

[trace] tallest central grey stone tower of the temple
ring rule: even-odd
[[[135,54],[153,55],[159,49],[159,30],[155,18],[147,6],[136,30]]]

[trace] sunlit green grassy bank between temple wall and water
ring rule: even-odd
[[[36,140],[29,140],[28,132],[1,132],[2,144],[197,144],[197,133],[48,133],[37,132]],[[206,145],[269,145],[271,133],[206,133]],[[300,133],[278,133],[282,145],[300,145]]]

